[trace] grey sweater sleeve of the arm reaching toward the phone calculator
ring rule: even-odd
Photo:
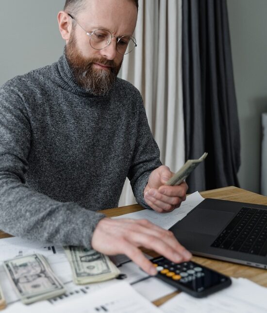
[[[23,95],[6,85],[0,88],[0,229],[26,239],[90,248],[103,214],[55,201],[25,185],[31,122]]]

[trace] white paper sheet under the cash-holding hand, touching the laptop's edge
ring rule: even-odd
[[[204,198],[198,191],[187,196],[181,206],[169,213],[158,213],[154,210],[145,209],[142,211],[128,213],[114,217],[113,219],[146,219],[150,222],[164,228],[169,229],[178,221],[181,221],[194,207],[200,204]]]

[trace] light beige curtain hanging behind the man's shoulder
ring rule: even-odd
[[[161,162],[184,164],[182,0],[139,0],[137,47],[124,57],[119,76],[141,92]],[[136,203],[128,179],[119,206]]]

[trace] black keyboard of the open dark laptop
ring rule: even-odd
[[[267,210],[243,207],[211,246],[266,256]]]

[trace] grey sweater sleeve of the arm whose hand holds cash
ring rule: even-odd
[[[152,136],[143,100],[139,98],[136,106],[136,139],[132,164],[128,178],[134,192],[137,203],[145,208],[150,206],[144,200],[144,189],[148,183],[150,173],[161,166],[160,151]]]

